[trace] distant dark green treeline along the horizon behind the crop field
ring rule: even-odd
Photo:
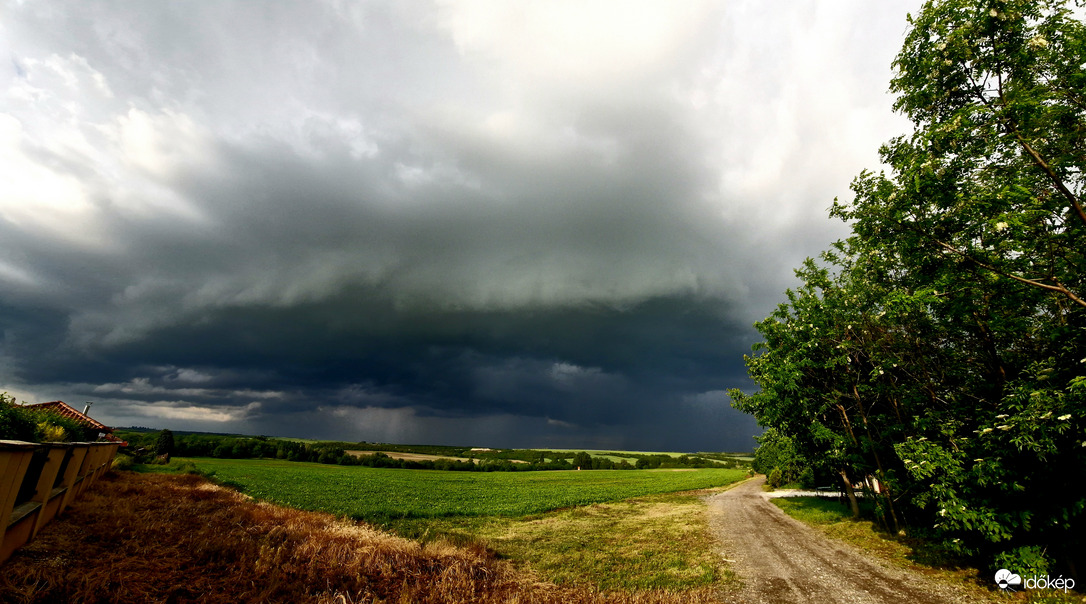
[[[442,445],[300,441],[269,437],[171,432],[169,430],[121,429],[116,430],[115,433],[128,442],[127,454],[147,458],[169,454],[180,457],[265,458],[339,464],[344,466],[456,471],[531,471],[577,468],[734,468],[745,465],[743,461],[721,453],[672,456],[667,454],[613,452],[591,455],[584,451],[471,449]],[[164,437],[164,435],[166,436]],[[355,454],[349,453],[349,451],[355,452]],[[367,452],[368,454],[357,454],[357,452]],[[397,460],[388,455],[387,452],[435,455],[443,458]]]

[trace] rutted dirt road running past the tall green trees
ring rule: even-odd
[[[972,603],[952,587],[892,568],[785,515],[763,495],[765,478],[709,498],[711,526],[743,588],[728,603]]]

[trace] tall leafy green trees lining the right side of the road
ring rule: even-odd
[[[735,405],[867,477],[888,528],[1076,572],[1086,28],[1049,0],[929,1],[910,24],[891,87],[914,129],[834,203],[853,235],[757,325],[760,391]]]

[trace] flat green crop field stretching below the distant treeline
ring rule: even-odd
[[[191,460],[260,500],[369,521],[526,516],[551,509],[721,487],[738,469],[476,473],[368,468],[273,460]]]

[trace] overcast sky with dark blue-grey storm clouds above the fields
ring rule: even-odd
[[[116,426],[749,450],[919,0],[4,2],[0,389]]]

